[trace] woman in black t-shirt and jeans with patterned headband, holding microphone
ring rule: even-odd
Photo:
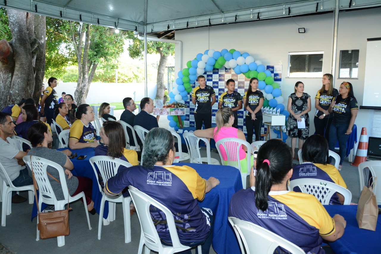
[[[343,82],[339,88],[339,95],[331,102],[329,112],[333,112],[333,121],[330,127],[329,146],[330,150],[335,150],[336,142],[339,141],[340,163],[338,170],[341,170],[344,157],[347,151],[347,141],[349,134],[356,120],[359,107],[353,94],[352,84]]]

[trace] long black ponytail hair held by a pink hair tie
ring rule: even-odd
[[[269,160],[270,164],[263,162]],[[282,183],[292,168],[291,149],[279,139],[271,139],[258,150],[255,181],[255,206],[267,210],[272,185]]]

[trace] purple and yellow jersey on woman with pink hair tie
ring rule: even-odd
[[[270,191],[268,207],[255,206],[255,188],[232,196],[229,216],[255,223],[296,244],[306,253],[323,254],[321,236],[335,232],[335,222],[314,196],[294,191]],[[274,253],[283,252],[277,248]]]

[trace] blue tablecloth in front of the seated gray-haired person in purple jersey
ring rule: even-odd
[[[219,185],[211,189],[203,201],[201,207],[210,208],[215,214],[213,229],[213,249],[219,253],[240,253],[239,244],[234,230],[227,220],[229,203],[232,195],[242,189],[241,174],[238,169],[230,166],[218,166],[198,163],[174,163],[174,165],[186,165],[194,168],[202,178],[216,177]]]

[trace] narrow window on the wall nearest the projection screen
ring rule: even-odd
[[[356,79],[359,71],[359,50],[340,50],[339,79]]]

